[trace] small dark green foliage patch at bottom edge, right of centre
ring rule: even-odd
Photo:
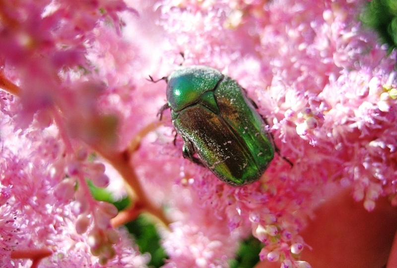
[[[259,262],[263,244],[253,236],[242,241],[236,259],[230,260],[230,268],[252,268]]]

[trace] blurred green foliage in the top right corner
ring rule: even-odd
[[[372,0],[368,2],[361,15],[364,25],[374,29],[381,42],[389,46],[389,53],[397,47],[397,1]]]

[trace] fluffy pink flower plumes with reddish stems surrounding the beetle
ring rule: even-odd
[[[261,260],[310,267],[300,232],[321,201],[397,205],[396,54],[357,20],[364,3],[0,2],[0,266],[146,267],[86,179],[168,225],[165,267],[227,267],[249,234]],[[165,82],[147,81],[181,64],[238,81],[293,167],[276,154],[233,188],[183,159],[156,116]]]

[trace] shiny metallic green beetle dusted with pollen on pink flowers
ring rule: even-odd
[[[257,181],[273,159],[274,147],[264,119],[241,86],[206,66],[181,67],[163,79],[168,103],[160,118],[171,108],[172,123],[185,141],[183,156],[228,185]]]

